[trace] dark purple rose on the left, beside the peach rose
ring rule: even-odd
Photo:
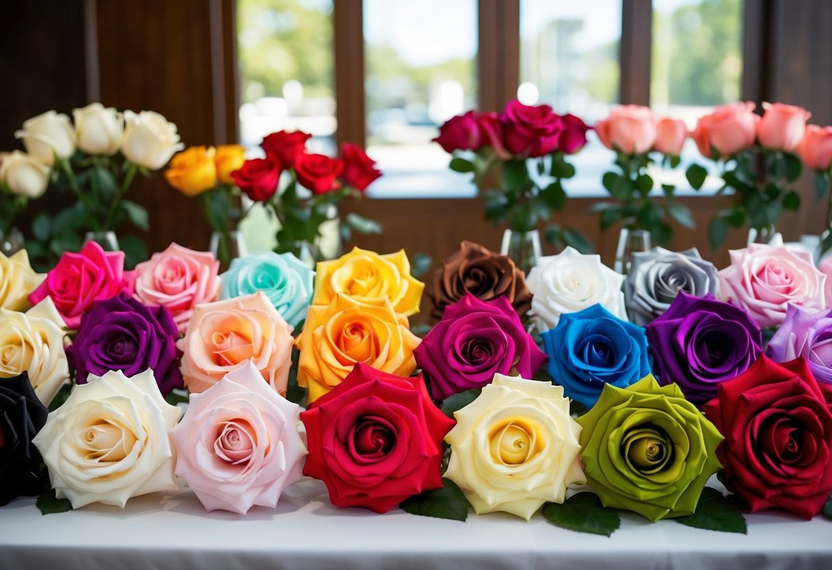
[[[82,317],[67,359],[76,370],[77,384],[86,383],[89,374],[120,370],[136,376],[150,368],[165,395],[183,386],[177,338],[179,329],[165,307],[147,307],[121,293],[96,302]]]

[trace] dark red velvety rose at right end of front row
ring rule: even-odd
[[[704,410],[726,438],[716,450],[723,482],[751,511],[820,512],[832,492],[832,411],[803,356],[760,356]]]

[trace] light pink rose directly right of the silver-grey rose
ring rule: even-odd
[[[809,252],[752,243],[729,253],[730,265],[718,273],[720,295],[745,308],[760,327],[780,325],[790,302],[825,307],[826,276]]]

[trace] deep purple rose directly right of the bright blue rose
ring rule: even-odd
[[[679,292],[646,329],[659,383],[676,382],[700,407],[716,396],[720,382],[745,372],[762,352],[760,326],[748,312],[711,293]]]

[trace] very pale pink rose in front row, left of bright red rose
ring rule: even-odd
[[[246,362],[191,395],[185,418],[171,430],[176,475],[208,511],[274,508],[283,489],[302,476],[307,452],[299,413]]]

